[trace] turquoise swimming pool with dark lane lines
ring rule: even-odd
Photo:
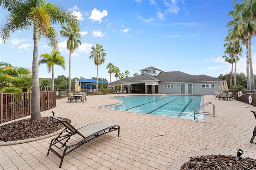
[[[202,96],[191,95],[120,96],[113,99],[122,103],[105,108],[192,120],[194,109],[203,104]],[[196,120],[204,121],[204,115],[196,114]]]

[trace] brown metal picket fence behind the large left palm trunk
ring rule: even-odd
[[[56,107],[56,91],[40,91],[40,111]],[[32,93],[0,93],[0,123],[29,116]]]

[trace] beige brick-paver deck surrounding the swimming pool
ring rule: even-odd
[[[191,156],[236,155],[238,149],[244,151],[242,157],[256,158],[256,144],[250,143],[256,125],[250,111],[256,107],[206,95],[204,103],[215,105],[215,117],[206,123],[99,108],[119,102],[111,97],[113,95],[88,96],[88,102],[84,103],[57,99],[56,108],[41,113],[46,117],[54,111],[57,117],[72,119],[76,128],[98,121],[120,125],[119,138],[116,138],[117,132],[111,132],[84,144],[64,157],[62,169],[178,170]],[[207,109],[210,110],[210,106]],[[46,155],[53,135],[25,142],[1,142],[0,169],[59,169],[60,158],[52,152]]]

